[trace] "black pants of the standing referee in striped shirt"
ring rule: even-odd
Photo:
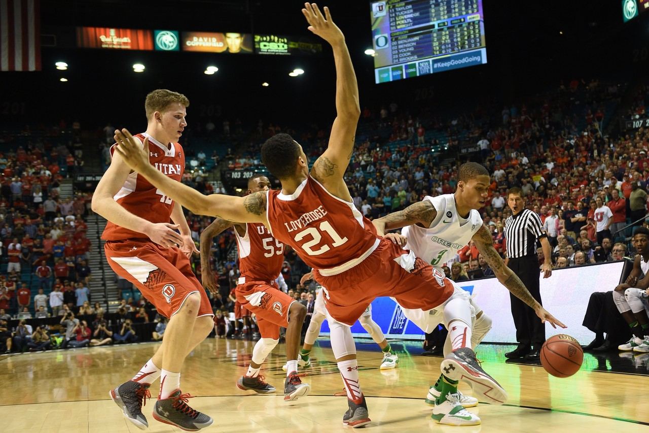
[[[541,302],[541,271],[539,270],[538,256],[526,256],[518,259],[509,259],[509,269],[520,278],[533,298]],[[516,341],[520,348],[541,348],[545,341],[545,325],[536,315],[534,310],[522,300],[509,293],[511,298],[511,317],[516,326]]]

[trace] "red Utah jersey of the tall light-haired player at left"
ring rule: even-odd
[[[160,172],[180,181],[185,171],[185,157],[182,146],[178,143],[171,143],[170,148],[147,135],[146,133],[135,135],[140,142],[144,138],[149,138],[149,162]],[[114,144],[110,148],[110,155],[115,151]],[[127,177],[123,187],[114,196],[114,199],[127,211],[153,223],[169,222],[171,220],[171,211],[175,203],[171,198],[156,189],[145,177],[132,172]],[[108,221],[101,239],[106,241],[121,241],[123,239],[147,238],[143,233],[125,229]],[[148,239],[148,238],[147,238]]]

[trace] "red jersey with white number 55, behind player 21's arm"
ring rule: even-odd
[[[284,244],[275,239],[263,224],[246,224],[245,236],[234,234],[239,248],[241,276],[254,281],[275,280],[284,263]]]

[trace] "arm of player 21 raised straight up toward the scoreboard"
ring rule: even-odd
[[[328,42],[334,51],[336,63],[336,119],[331,128],[329,144],[324,153],[313,164],[311,174],[334,192],[342,183],[343,174],[354,151],[354,137],[360,117],[358,83],[345,35],[332,21],[329,8],[324,7],[324,16],[315,3],[304,3],[302,14],[309,23],[308,29]],[[329,184],[329,185],[327,185]],[[349,195],[349,192],[347,192]]]

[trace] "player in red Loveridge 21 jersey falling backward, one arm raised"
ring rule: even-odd
[[[378,237],[373,224],[354,207],[343,181],[360,116],[354,68],[345,37],[332,22],[328,8],[323,16],[315,3],[306,3],[302,13],[310,24],[308,29],[332,46],[337,74],[336,120],[328,148],[312,170],[302,146],[288,134],[278,134],[263,144],[262,161],[280,179],[281,191],[256,192],[243,198],[204,196],[186,185],[177,186],[147,164],[146,151],[126,129],[116,134],[117,151],[136,172],[193,213],[263,223],[275,239],[290,245],[315,269],[315,280],[324,287],[325,306],[331,316],[332,350],[347,389],[349,410],[343,415],[344,425],[358,427],[370,422],[350,326],[378,296],[392,296],[409,309],[452,310],[457,318],[452,339],[458,341],[458,347],[448,361],[454,369],[465,371],[464,377],[471,375],[476,393],[492,402],[504,402],[504,389],[480,367],[471,348],[465,347],[471,341],[469,302],[453,298],[453,283],[402,250],[390,235]],[[549,313],[545,314],[541,319],[550,320]]]

